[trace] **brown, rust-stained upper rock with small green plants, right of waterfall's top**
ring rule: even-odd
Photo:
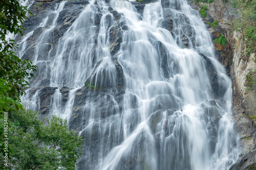
[[[226,44],[215,44],[216,55],[218,60],[226,68],[227,74],[230,75],[232,57],[234,55],[234,44],[236,41],[233,39],[232,21],[238,16],[234,14],[234,9],[231,6],[223,3],[221,0],[215,0],[211,4],[197,3],[196,1],[188,1],[189,5],[200,11],[202,5],[206,5],[208,10],[207,16],[204,18],[205,24],[208,25],[208,31],[211,34],[212,40],[220,37],[223,34],[226,38]],[[217,21],[217,27],[211,26],[214,21]]]

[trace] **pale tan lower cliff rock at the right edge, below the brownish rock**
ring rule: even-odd
[[[256,86],[248,89],[246,76],[256,69],[254,55],[249,59],[242,55],[242,43],[238,41],[238,48],[233,57],[232,80],[233,80],[233,119],[237,132],[240,136],[241,154],[239,160],[230,169],[253,169],[256,162]],[[256,74],[252,74],[254,82]]]

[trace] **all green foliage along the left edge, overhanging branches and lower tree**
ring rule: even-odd
[[[24,110],[20,103],[36,66],[15,55],[17,46],[8,35],[23,35],[22,24],[28,12],[20,1],[1,1],[0,169],[74,169],[81,138],[69,132],[65,120],[57,117],[44,126],[36,113]]]

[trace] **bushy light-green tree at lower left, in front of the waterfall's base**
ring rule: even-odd
[[[45,126],[37,112],[13,110],[9,114],[13,124],[10,169],[75,169],[83,140],[68,130],[67,120],[52,116]]]

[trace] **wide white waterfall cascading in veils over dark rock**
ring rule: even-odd
[[[40,74],[23,102],[40,110],[43,82],[58,87],[49,113],[83,136],[77,169],[219,170],[236,162],[231,81],[186,1],[154,1],[139,12],[132,1],[91,0],[58,42],[54,29],[68,7],[54,5],[34,29],[44,28],[30,57]],[[33,34],[19,41],[21,58]]]

